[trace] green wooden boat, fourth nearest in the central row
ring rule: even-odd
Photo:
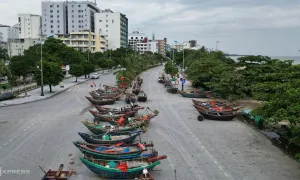
[[[106,126],[102,124],[89,123],[87,121],[82,121],[82,123],[94,134],[103,134],[107,131],[109,131],[110,133],[118,134],[119,132],[134,131],[140,128],[144,128],[142,124],[135,124],[132,126]]]

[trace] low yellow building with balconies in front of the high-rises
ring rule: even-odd
[[[104,52],[106,50],[105,36],[104,33],[83,31],[71,32],[69,35],[57,34],[55,37],[79,51]]]

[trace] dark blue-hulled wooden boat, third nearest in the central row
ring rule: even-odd
[[[117,144],[120,142],[132,143],[142,131],[120,132],[119,134],[106,132],[99,135],[90,135],[87,133],[78,133],[87,143],[94,144]]]

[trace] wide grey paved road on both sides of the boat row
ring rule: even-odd
[[[141,105],[160,111],[143,140],[154,141],[159,153],[169,157],[153,172],[155,179],[174,180],[174,170],[177,180],[300,178],[298,163],[245,124],[197,121],[191,100],[168,94],[157,83],[161,71],[162,67],[157,67],[142,75],[149,101]],[[112,85],[115,79],[109,74],[95,82]],[[72,179],[99,179],[79,161],[81,153],[72,144],[81,140],[77,132],[88,132],[80,120],[92,118],[84,98],[90,89],[86,82],[48,100],[0,108],[0,167],[30,171],[24,175],[2,174],[0,179],[39,179],[43,175],[39,165],[56,169],[61,163],[76,170]]]

